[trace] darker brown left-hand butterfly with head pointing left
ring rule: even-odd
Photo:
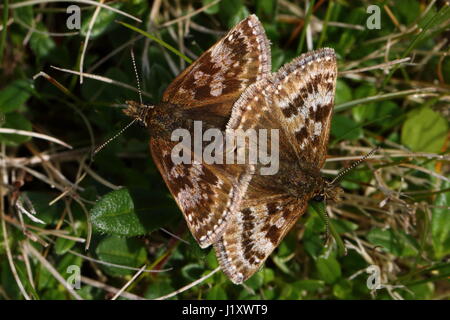
[[[238,23],[169,85],[162,102],[146,106],[127,102],[125,113],[140,120],[150,133],[154,162],[200,247],[216,242],[247,187],[249,176],[223,165],[174,164],[171,133],[225,129],[232,106],[251,84],[271,70],[269,41],[255,15]]]

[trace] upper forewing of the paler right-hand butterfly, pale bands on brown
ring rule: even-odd
[[[300,161],[319,168],[327,154],[336,78],[336,55],[324,48],[294,59],[274,79],[273,104],[292,148]]]

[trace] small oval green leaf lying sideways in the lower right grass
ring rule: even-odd
[[[374,228],[370,230],[367,239],[396,256],[409,257],[418,254],[416,241],[402,231]]]

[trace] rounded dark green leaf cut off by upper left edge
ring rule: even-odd
[[[31,96],[32,85],[26,80],[16,80],[0,91],[0,111],[8,113],[19,110]]]

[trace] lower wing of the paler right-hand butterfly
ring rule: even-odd
[[[289,196],[269,196],[249,185],[247,200],[230,217],[222,238],[214,243],[223,272],[240,284],[257,272],[307,206]]]

